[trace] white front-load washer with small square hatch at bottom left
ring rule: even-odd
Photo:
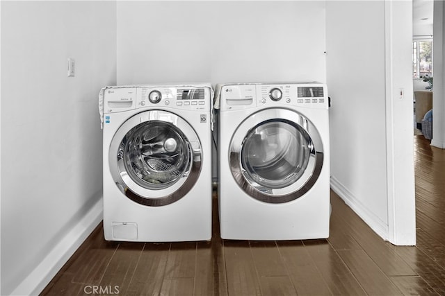
[[[105,239],[209,241],[211,85],[105,87],[101,94]]]

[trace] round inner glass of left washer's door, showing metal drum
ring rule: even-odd
[[[147,121],[131,129],[122,139],[118,153],[120,161],[140,186],[164,189],[188,171],[191,149],[175,125]]]

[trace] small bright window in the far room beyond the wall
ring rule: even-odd
[[[432,40],[412,42],[412,78],[432,76]]]

